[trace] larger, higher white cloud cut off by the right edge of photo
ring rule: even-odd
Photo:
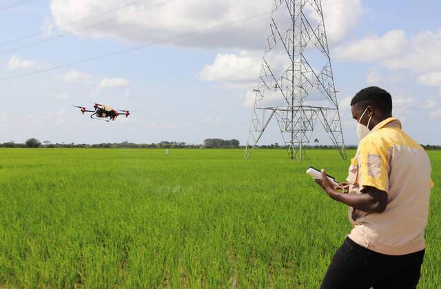
[[[411,69],[415,72],[440,70],[440,51],[441,30],[424,31],[412,37],[407,53],[384,61],[384,65],[389,69]]]

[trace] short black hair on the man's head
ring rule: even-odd
[[[371,86],[361,89],[351,100],[351,106],[358,104],[372,105],[384,114],[392,114],[392,96],[380,87]]]

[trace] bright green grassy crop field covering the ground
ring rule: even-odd
[[[353,156],[354,151],[349,151]],[[440,180],[441,152],[429,152]],[[311,150],[0,149],[1,288],[318,288],[351,226]],[[420,288],[441,287],[435,186]]]

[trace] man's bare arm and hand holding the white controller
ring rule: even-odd
[[[329,182],[325,170],[322,170],[322,180],[316,180],[323,190],[333,200],[347,204],[357,210],[367,213],[382,213],[387,206],[387,193],[373,186],[365,186],[361,195],[349,195],[337,193],[334,186]]]

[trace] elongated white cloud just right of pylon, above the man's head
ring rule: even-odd
[[[369,35],[348,45],[337,47],[336,56],[343,61],[380,61],[401,54],[405,45],[404,31],[392,30],[383,36]]]

